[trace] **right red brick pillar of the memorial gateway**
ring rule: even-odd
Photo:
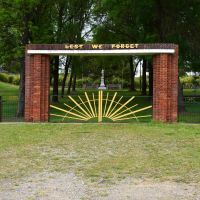
[[[178,48],[153,58],[153,119],[176,122],[178,115]]]

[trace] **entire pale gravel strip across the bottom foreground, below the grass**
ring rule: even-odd
[[[42,173],[0,182],[1,200],[199,200],[200,185],[127,178],[86,184],[74,173]]]

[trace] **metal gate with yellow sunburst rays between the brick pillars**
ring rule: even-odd
[[[52,99],[52,98],[51,98]],[[50,122],[150,122],[152,97],[121,95],[120,92],[83,92],[58,97],[50,105]]]

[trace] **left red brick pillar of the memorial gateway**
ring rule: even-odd
[[[50,63],[48,55],[26,55],[25,121],[49,118]]]

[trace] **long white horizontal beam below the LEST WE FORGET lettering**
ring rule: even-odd
[[[114,49],[114,50],[27,50],[27,54],[47,55],[153,55],[174,54],[175,49]]]

